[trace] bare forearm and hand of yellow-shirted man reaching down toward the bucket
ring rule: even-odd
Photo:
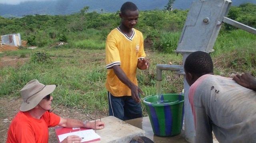
[[[113,66],[113,70],[114,70],[114,73],[116,74],[116,76],[118,77],[118,79],[120,81],[122,81],[122,83],[124,83],[125,85],[127,85],[131,89],[132,99],[134,99],[134,101],[139,103],[140,102],[140,97],[139,97],[138,93],[140,92],[142,95],[144,95],[144,93],[142,92],[140,87],[138,87],[137,85],[132,83],[132,81],[130,81],[130,79],[128,79],[128,77],[126,76],[126,74],[120,68],[119,65]]]

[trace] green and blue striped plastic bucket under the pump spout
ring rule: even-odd
[[[184,95],[162,94],[160,100],[164,103],[157,103],[157,95],[143,98],[154,134],[161,137],[180,134],[184,119]]]

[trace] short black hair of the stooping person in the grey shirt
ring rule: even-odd
[[[194,73],[198,77],[213,73],[213,63],[211,56],[202,51],[191,53],[185,60],[184,70]]]

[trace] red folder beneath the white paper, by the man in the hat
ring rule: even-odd
[[[59,143],[60,143],[59,135],[62,135],[62,134],[65,134],[65,133],[71,133],[71,132],[75,132],[75,131],[89,130],[87,128],[73,129],[73,128],[66,128],[66,127],[55,127],[54,129],[55,129],[56,135],[58,137]],[[90,141],[82,141],[82,143],[90,143],[90,142],[93,142],[93,141],[100,141],[100,138],[92,139]]]

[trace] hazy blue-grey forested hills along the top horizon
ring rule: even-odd
[[[0,16],[20,17],[24,15],[48,14],[48,15],[66,15],[80,12],[84,6],[90,6],[88,12],[117,12],[121,5],[127,0],[46,0],[46,1],[27,1],[17,5],[0,4]],[[134,2],[139,10],[162,10],[168,3],[168,0],[129,0]],[[174,9],[190,8],[192,0],[176,0]],[[242,3],[256,4],[256,0],[232,0],[232,6],[238,6]]]

